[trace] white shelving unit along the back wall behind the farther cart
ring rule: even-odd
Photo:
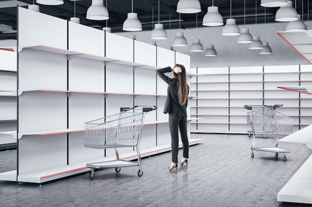
[[[312,66],[259,66],[191,69],[191,115],[197,133],[248,134],[244,105],[283,104],[277,111],[294,119],[294,131],[312,122],[312,97],[281,90],[283,84],[311,85]]]

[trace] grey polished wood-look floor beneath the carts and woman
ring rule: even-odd
[[[143,159],[138,167],[80,174],[48,183],[0,181],[0,207],[278,207],[277,194],[311,155],[305,144],[280,142],[291,149],[287,161],[255,151],[247,135],[191,134],[203,144],[190,147],[188,167],[169,173],[170,153]],[[256,146],[274,146],[256,138]],[[96,150],[96,149],[95,149]],[[182,151],[179,151],[179,159]],[[0,151],[0,172],[16,166],[16,150]],[[310,205],[281,202],[285,207]]]

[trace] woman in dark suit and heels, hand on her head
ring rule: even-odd
[[[164,73],[173,72],[173,78],[166,76]],[[168,84],[167,98],[164,105],[163,113],[169,114],[169,130],[171,136],[171,165],[168,167],[169,172],[177,170],[179,135],[183,143],[183,157],[180,162],[181,166],[187,166],[188,159],[188,138],[187,138],[187,96],[189,87],[186,82],[186,70],[183,65],[176,64],[173,68],[166,67],[158,69],[159,77]]]

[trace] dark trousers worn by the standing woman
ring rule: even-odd
[[[187,117],[169,114],[169,130],[171,135],[171,160],[178,163],[177,155],[179,151],[179,130],[183,143],[183,157],[188,158],[188,138],[187,138]]]

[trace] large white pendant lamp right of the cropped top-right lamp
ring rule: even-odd
[[[275,14],[275,21],[295,21],[298,19],[298,13],[293,7],[293,1],[288,0],[285,6],[281,6]]]

